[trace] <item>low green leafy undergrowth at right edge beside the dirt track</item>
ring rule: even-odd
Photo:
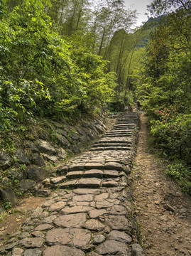
[[[191,195],[191,169],[181,162],[169,164],[165,170],[166,174],[178,181],[182,191]]]

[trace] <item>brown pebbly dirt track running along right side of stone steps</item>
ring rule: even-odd
[[[148,150],[147,119],[141,114],[133,168],[136,218],[148,256],[191,255],[191,198],[166,178],[164,164]]]

